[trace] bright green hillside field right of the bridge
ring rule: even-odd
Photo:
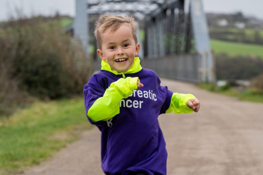
[[[215,39],[211,39],[210,43],[211,49],[215,54],[225,52],[230,56],[249,55],[260,56],[263,58],[263,45],[234,43]]]

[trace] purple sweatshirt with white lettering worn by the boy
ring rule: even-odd
[[[120,101],[120,113],[108,121],[93,122],[101,131],[101,159],[105,174],[128,171],[149,175],[166,174],[167,151],[158,116],[169,108],[173,92],[160,86],[160,79],[149,69],[125,74],[139,77],[144,84]],[[122,78],[106,70],[94,74],[84,86],[86,114],[112,82]]]

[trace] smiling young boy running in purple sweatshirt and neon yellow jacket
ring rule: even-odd
[[[160,86],[156,73],[144,69],[132,17],[101,15],[96,22],[100,72],[84,86],[90,123],[101,131],[105,174],[166,174],[167,151],[158,116],[198,112],[192,94],[173,93]]]

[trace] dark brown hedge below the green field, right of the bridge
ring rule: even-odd
[[[216,54],[217,79],[251,79],[263,72],[263,60],[253,56]]]

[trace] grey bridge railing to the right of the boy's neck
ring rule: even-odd
[[[192,83],[215,81],[214,66],[208,66],[211,52],[161,56],[141,61],[144,68],[154,70],[158,76]],[[213,61],[214,62],[214,61]],[[212,75],[210,75],[212,74]]]

